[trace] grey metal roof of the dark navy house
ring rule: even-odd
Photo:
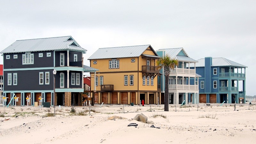
[[[0,53],[72,50],[86,53],[72,36],[17,40]]]

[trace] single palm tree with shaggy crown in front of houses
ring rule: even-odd
[[[168,55],[159,58],[156,61],[156,68],[160,70],[164,68],[164,76],[165,76],[165,88],[164,88],[164,111],[169,111],[169,75],[171,70],[179,65],[178,60],[170,58]]]

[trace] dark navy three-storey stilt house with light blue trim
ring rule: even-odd
[[[39,97],[53,105],[55,69],[54,105],[80,105],[84,92],[83,72],[97,70],[83,65],[85,52],[71,36],[17,40],[1,52],[6,104],[15,94],[19,98],[17,105],[27,105],[27,97],[31,98],[32,105]]]

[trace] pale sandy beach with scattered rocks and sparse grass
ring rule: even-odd
[[[169,105],[169,112],[164,112],[164,105],[71,108],[58,106],[53,117],[53,107],[1,106],[1,143],[256,142],[255,105],[239,104],[236,110],[234,104]],[[133,120],[140,113],[154,124]],[[122,119],[108,120],[111,116]],[[131,123],[138,126],[128,126]]]

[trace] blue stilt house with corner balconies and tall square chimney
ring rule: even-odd
[[[245,103],[246,66],[225,58],[197,60],[200,103]],[[191,67],[194,67],[191,66]]]

